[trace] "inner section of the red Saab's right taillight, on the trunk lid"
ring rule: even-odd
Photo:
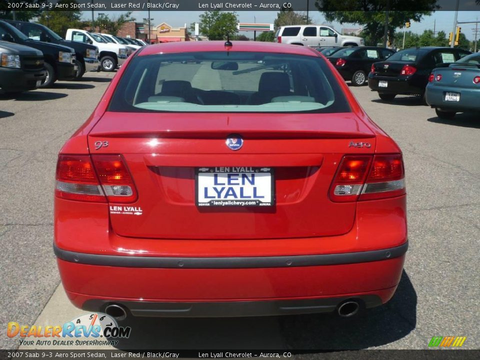
[[[345,155],[330,186],[330,199],[336,202],[355,201],[370,168],[371,156]]]

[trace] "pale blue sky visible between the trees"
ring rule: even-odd
[[[85,20],[91,19],[91,11],[82,11],[82,17]],[[118,16],[119,11],[102,11],[105,14],[111,16]],[[203,11],[150,11],[150,16],[153,18],[152,25],[166,22],[171,26],[183,26],[185,23],[187,26],[191,22],[198,21],[198,16]],[[240,22],[260,22],[260,23],[273,23],[276,18],[277,11],[237,11]],[[94,13],[95,18],[97,11]],[[143,18],[148,17],[147,11],[133,11],[132,16],[141,21]],[[322,24],[327,23],[325,18],[319,11],[309,11],[308,16],[312,19],[312,23]],[[454,11],[436,11],[430,16],[425,16],[420,22],[411,22],[411,26],[408,30],[416,33],[422,33],[423,30],[433,30],[435,23],[435,31],[443,30],[448,34],[453,28],[453,16]],[[480,11],[458,11],[458,21],[480,21]],[[352,24],[339,24],[337,22],[332,23],[333,27],[340,31],[342,27],[357,27]],[[465,34],[466,38],[473,40],[473,29],[475,24],[461,24],[461,31]],[[480,23],[478,24],[480,29]],[[245,33],[248,37],[253,37],[253,32]],[[258,34],[258,32],[257,32]],[[477,35],[480,38],[480,34]]]

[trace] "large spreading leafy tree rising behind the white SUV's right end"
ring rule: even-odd
[[[376,45],[383,40],[385,10],[388,12],[388,37],[393,38],[395,28],[407,21],[420,21],[438,8],[436,0],[315,0],[316,8],[328,21],[355,23],[365,27],[363,36],[367,44]],[[418,10],[411,10],[417,8]]]

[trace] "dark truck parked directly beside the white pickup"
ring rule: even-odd
[[[98,61],[98,48],[95,45],[64,40],[58,36],[58,34],[42,24],[15,20],[5,21],[15,26],[30,39],[72,47],[75,50],[75,63],[78,67],[76,72],[77,80],[83,76],[85,71],[98,71],[100,69],[100,62]]]

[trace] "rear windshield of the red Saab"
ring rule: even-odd
[[[349,112],[323,59],[266,52],[136,56],[109,104],[121,112]]]

